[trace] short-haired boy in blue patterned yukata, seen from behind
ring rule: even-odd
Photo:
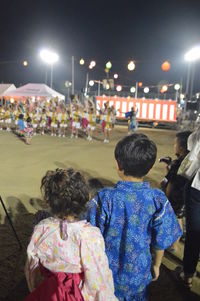
[[[159,277],[164,250],[182,235],[165,194],[143,181],[156,155],[155,143],[143,134],[119,141],[115,159],[121,181],[100,190],[88,208],[88,221],[104,236],[120,301],[148,300],[148,284]]]

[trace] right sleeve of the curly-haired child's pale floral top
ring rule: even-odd
[[[117,301],[112,271],[109,269],[103,237],[96,227],[88,227],[81,241],[81,262],[84,272],[82,293],[85,300]]]

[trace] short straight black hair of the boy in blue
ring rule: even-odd
[[[132,134],[120,140],[115,147],[115,159],[124,175],[142,178],[155,163],[157,147],[143,134]]]

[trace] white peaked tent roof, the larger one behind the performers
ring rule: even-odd
[[[4,94],[7,97],[20,98],[20,97],[45,97],[64,100],[65,96],[51,89],[45,84],[27,84],[19,87],[16,90],[8,91]]]

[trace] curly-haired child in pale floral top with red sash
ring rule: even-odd
[[[88,187],[72,169],[48,171],[41,190],[54,217],[34,228],[27,249],[26,301],[117,301],[98,228],[79,220]]]

